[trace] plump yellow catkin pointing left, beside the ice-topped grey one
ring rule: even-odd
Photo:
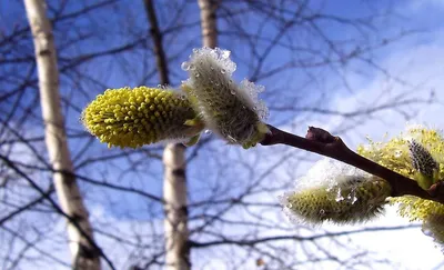
[[[107,90],[82,112],[88,131],[109,147],[137,148],[200,133],[203,123],[190,101],[165,89],[139,87]]]

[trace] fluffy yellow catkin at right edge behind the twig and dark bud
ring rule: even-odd
[[[359,153],[407,178],[416,180],[421,186],[423,176],[414,168],[408,152],[408,143],[414,140],[421,143],[437,162],[432,182],[444,179],[443,153],[444,139],[433,129],[414,128],[398,138],[387,142],[373,142],[370,147],[360,147]],[[398,206],[398,213],[411,221],[422,221],[423,230],[427,231],[438,244],[444,244],[444,204],[424,200],[413,196],[391,198]]]

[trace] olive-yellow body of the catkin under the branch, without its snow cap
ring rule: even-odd
[[[296,191],[286,196],[287,212],[307,223],[356,223],[377,217],[390,184],[375,177],[341,177],[336,184]]]

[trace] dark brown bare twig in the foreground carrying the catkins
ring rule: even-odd
[[[444,188],[441,182],[432,186],[428,191],[423,190],[416,181],[355,153],[345,146],[341,138],[334,137],[323,129],[310,127],[306,138],[302,138],[272,126],[269,128],[271,132],[262,140],[262,146],[286,144],[315,152],[385,179],[392,186],[392,197],[410,194],[444,203]]]

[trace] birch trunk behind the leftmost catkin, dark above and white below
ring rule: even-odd
[[[151,26],[150,32],[154,42],[160,82],[168,84],[170,83],[168,62],[153,0],[144,0],[144,4]],[[163,170],[165,269],[188,270],[191,268],[191,262],[188,230],[185,147],[183,144],[169,143],[165,147],[163,151]]]

